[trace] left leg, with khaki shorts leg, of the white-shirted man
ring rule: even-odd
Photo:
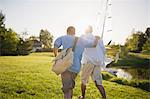
[[[82,91],[82,96],[79,97],[79,99],[84,99],[85,98],[85,91],[86,91],[86,83],[88,83],[89,76],[92,74],[94,65],[87,63],[83,65],[82,68],[82,74],[81,74],[81,91]]]

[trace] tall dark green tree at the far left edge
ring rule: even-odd
[[[17,33],[5,28],[5,16],[0,12],[0,55],[14,55],[18,43]]]

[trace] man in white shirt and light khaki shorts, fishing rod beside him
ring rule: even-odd
[[[99,44],[98,40],[99,37],[95,37],[93,34],[92,26],[88,26],[86,29],[86,33],[81,37],[84,39],[84,42],[88,43],[90,45],[89,47],[96,47],[97,43]],[[103,44],[101,44],[101,47],[104,47]],[[87,46],[86,46],[87,47]],[[91,52],[89,52],[91,53]],[[84,53],[85,54],[85,53]],[[86,53],[88,54],[88,53]],[[98,88],[99,92],[102,94],[102,98],[106,99],[106,93],[105,89],[102,86],[102,75],[101,69],[99,63],[98,65],[95,65],[94,58],[92,57],[93,54],[86,57],[86,55],[83,55],[83,68],[82,68],[82,74],[81,74],[81,91],[82,96],[79,97],[79,99],[85,99],[85,90],[86,90],[86,84],[88,83],[89,76],[91,76],[92,80],[94,81],[96,87]],[[97,60],[97,59],[95,59]]]

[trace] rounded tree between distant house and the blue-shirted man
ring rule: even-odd
[[[53,35],[48,30],[40,31],[40,41],[43,43],[44,48],[51,48],[53,42]]]

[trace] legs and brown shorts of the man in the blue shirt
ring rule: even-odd
[[[70,72],[68,70],[61,74],[63,85],[62,91],[64,93],[64,99],[72,99],[76,76],[76,73]]]

